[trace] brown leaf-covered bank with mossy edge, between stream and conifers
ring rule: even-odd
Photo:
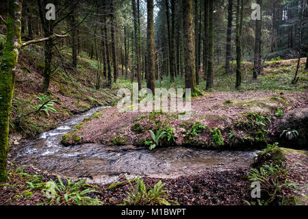
[[[114,107],[84,120],[62,138],[62,143],[146,146],[151,140],[149,130],[155,133],[172,129],[174,140],[160,140],[159,146],[248,149],[262,148],[267,142],[286,143],[280,135],[285,129],[291,129],[298,131],[296,138],[302,143],[293,138],[287,140],[287,146],[305,148],[307,126],[303,123],[308,118],[307,96],[307,92],[210,92],[192,99],[192,116],[186,120],[180,120],[179,113],[120,113]],[[305,113],[290,116],[300,110]],[[193,130],[196,125],[205,128]]]

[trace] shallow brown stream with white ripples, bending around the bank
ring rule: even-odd
[[[86,178],[89,183],[110,183],[117,181],[118,176],[124,173],[130,177],[175,178],[204,171],[245,168],[255,156],[253,151],[207,151],[185,147],[149,151],[135,146],[81,144],[66,147],[61,144],[65,133],[102,109],[97,107],[76,115],[60,127],[12,147],[10,162],[31,165],[72,179]]]

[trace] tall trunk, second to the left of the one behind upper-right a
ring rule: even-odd
[[[228,26],[227,26],[227,42],[226,42],[226,74],[230,72],[233,0],[229,0],[228,4],[229,5],[228,5]]]

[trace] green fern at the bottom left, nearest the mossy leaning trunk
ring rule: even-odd
[[[59,183],[55,183],[51,179],[47,183],[47,186],[44,188],[45,191],[52,191],[51,198],[47,198],[44,203],[48,203],[49,205],[101,205],[103,204],[97,198],[90,198],[86,196],[91,192],[97,192],[95,190],[82,190],[84,188],[84,183],[86,180],[81,180],[77,182],[72,182],[70,179],[67,179],[66,183],[62,181],[62,179],[58,176],[57,181]],[[44,204],[40,203],[40,204]]]

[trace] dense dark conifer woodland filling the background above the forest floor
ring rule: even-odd
[[[44,43],[44,90],[49,87],[49,75],[57,65],[53,62],[57,59],[56,50],[71,53],[72,68],[77,68],[80,54],[98,60],[101,73],[97,75],[97,88],[105,80],[107,86],[111,86],[121,75],[138,79],[141,87],[152,58],[148,57],[146,44],[146,1],[48,3],[56,6],[55,21],[44,18],[47,1],[23,1],[21,30],[25,41],[52,34],[69,35]],[[186,3],[192,7],[189,15]],[[190,73],[195,77],[192,83],[207,79],[206,88],[213,88],[213,65],[224,64],[225,73],[233,74],[230,62],[254,62],[253,77],[256,78],[261,74],[264,60],[298,58],[298,53],[300,57],[307,57],[307,1],[258,0],[261,21],[251,19],[252,3],[254,1],[247,0],[154,1],[155,78],[170,77],[174,81],[178,75],[185,75],[185,66],[194,62],[194,71]],[[2,2],[3,17],[5,8]],[[189,20],[188,16],[192,16],[193,51],[187,49],[190,35],[186,35],[185,21]],[[5,34],[3,24],[0,31]],[[235,87],[240,86],[240,82],[238,76]]]

